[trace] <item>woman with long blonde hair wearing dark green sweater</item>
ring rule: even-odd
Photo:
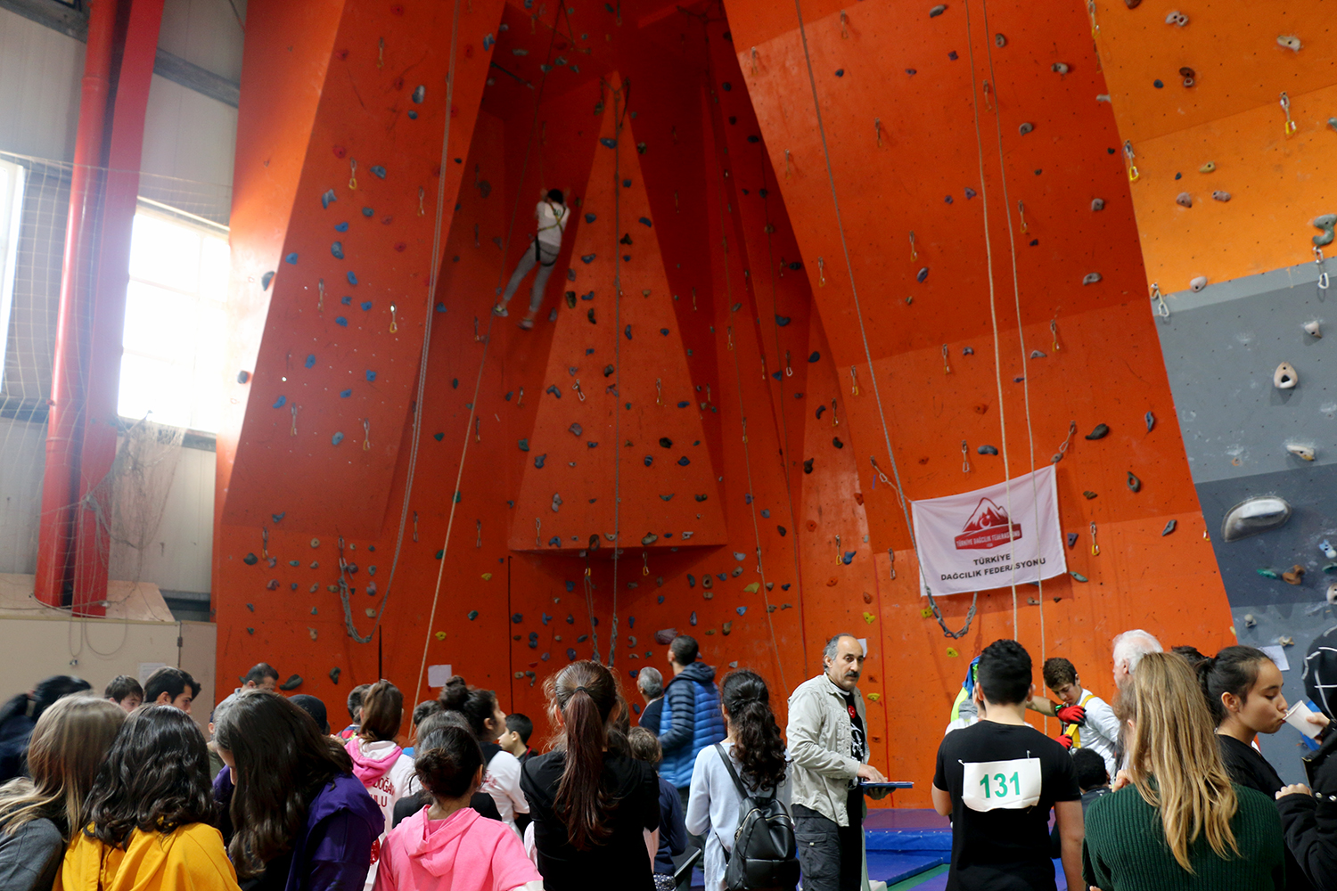
[[[1130,784],[1086,814],[1083,878],[1102,891],[1284,891],[1281,819],[1226,773],[1189,663],[1147,653],[1119,700]]]

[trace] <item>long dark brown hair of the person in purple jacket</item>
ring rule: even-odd
[[[241,878],[253,878],[293,847],[312,800],[350,773],[353,759],[309,713],[263,689],[243,692],[223,711],[214,740],[237,764],[230,810],[237,832],[227,854]]]

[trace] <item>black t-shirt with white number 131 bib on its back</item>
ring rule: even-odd
[[[947,891],[1054,891],[1050,808],[1082,797],[1062,745],[1029,725],[981,720],[943,739],[933,785],[952,793]]]

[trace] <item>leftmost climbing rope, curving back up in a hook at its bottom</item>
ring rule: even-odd
[[[451,61],[447,65],[447,79],[445,79],[445,128],[441,135],[441,175],[437,178],[436,184],[436,220],[432,230],[432,274],[428,277],[427,286],[427,318],[422,325],[422,361],[418,365],[418,381],[417,381],[417,397],[413,402],[413,427],[412,427],[412,442],[409,443],[409,466],[408,474],[404,481],[404,505],[400,509],[400,528],[394,538],[394,557],[390,560],[390,577],[385,581],[385,593],[381,596],[381,604],[376,609],[376,622],[372,625],[372,631],[364,637],[357,631],[357,624],[353,621],[353,605],[352,605],[352,590],[348,584],[348,573],[342,560],[340,557],[340,601],[344,604],[344,627],[348,631],[348,636],[356,640],[358,644],[369,644],[376,636],[377,629],[381,627],[381,617],[385,614],[385,606],[390,602],[390,590],[394,586],[394,574],[400,568],[400,554],[404,549],[404,529],[408,524],[409,516],[409,497],[413,494],[413,481],[417,474],[417,456],[418,456],[418,439],[422,433],[422,394],[427,391],[427,359],[428,353],[432,347],[432,301],[436,299],[436,285],[437,278],[441,274],[441,220],[445,208],[445,164],[451,154],[451,107],[455,96],[455,56],[456,56],[456,40],[460,35],[460,0],[455,0],[455,11],[451,17]],[[472,421],[471,421],[472,426]],[[467,442],[465,442],[467,446]],[[464,460],[461,457],[460,464],[463,466]],[[414,533],[416,537],[416,533]],[[435,605],[435,601],[433,601]],[[421,683],[421,679],[420,679]]]

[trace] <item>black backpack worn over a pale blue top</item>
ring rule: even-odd
[[[798,884],[798,846],[789,811],[774,789],[769,797],[750,793],[725,747],[717,743],[715,751],[742,797],[734,850],[725,855],[725,887],[729,891],[793,891]]]

